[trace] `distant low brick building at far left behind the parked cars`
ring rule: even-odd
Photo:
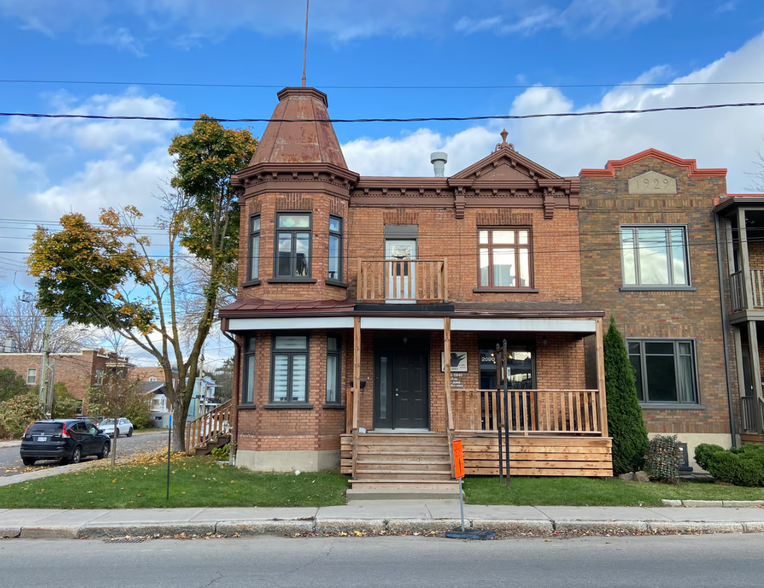
[[[67,391],[83,400],[87,389],[100,385],[104,374],[127,359],[103,349],[83,349],[78,353],[51,353],[49,370],[53,373],[53,384],[63,383]],[[41,353],[0,353],[0,369],[10,368],[31,386],[40,386]]]

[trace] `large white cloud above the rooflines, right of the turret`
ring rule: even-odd
[[[678,83],[756,79],[764,69],[764,35],[735,52],[676,78]],[[637,83],[665,78],[670,70],[656,66]],[[511,114],[644,109],[688,104],[761,101],[756,86],[620,86],[594,104],[575,108],[554,88],[531,88],[513,102]],[[604,115],[497,121],[453,136],[429,129],[381,139],[357,139],[343,145],[348,165],[364,175],[432,175],[431,151],[449,154],[447,175],[471,165],[491,152],[506,124],[509,141],[523,155],[561,175],[577,175],[582,168],[603,167],[650,147],[678,157],[697,159],[701,167],[726,167],[730,192],[750,185],[755,151],[764,139],[764,108],[720,109],[643,115]]]

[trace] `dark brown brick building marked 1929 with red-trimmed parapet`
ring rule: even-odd
[[[648,432],[676,434],[691,465],[698,443],[733,442],[737,367],[713,214],[725,195],[725,169],[654,149],[581,171],[583,301],[615,317]]]

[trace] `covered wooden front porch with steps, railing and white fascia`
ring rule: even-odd
[[[433,479],[427,472],[450,480],[456,438],[464,443],[468,475],[498,474],[505,426],[513,475],[611,476],[602,313],[557,306],[456,304],[429,316],[388,310],[387,316],[354,317],[347,355],[352,387],[346,390],[341,442],[342,471],[353,486],[421,484]],[[504,340],[506,394],[493,355]],[[406,359],[422,354],[425,361]],[[386,374],[388,362],[393,366]],[[423,366],[425,374],[419,373]],[[422,385],[424,393],[414,389]],[[425,406],[414,426],[396,418],[409,402],[400,395]],[[379,418],[390,410],[392,420]]]

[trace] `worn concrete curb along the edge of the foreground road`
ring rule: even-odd
[[[251,537],[434,534],[460,525],[458,519],[273,519],[208,523],[134,523],[110,525],[30,525],[0,527],[0,539],[117,539],[184,535]],[[709,533],[764,533],[761,522],[703,521],[576,521],[576,520],[465,520],[465,527],[496,531],[504,536],[565,537],[580,535],[683,535]]]

